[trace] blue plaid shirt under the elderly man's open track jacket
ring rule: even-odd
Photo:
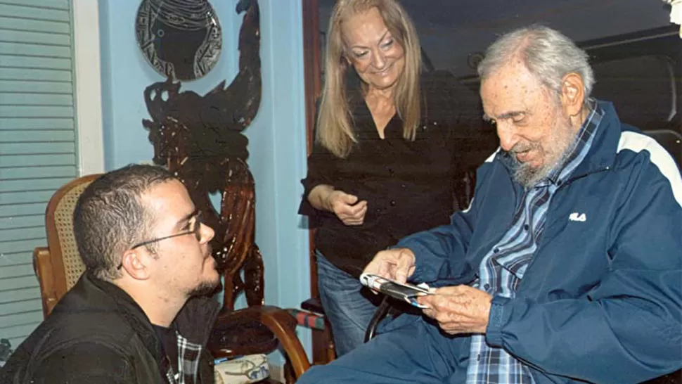
[[[475,288],[491,295],[515,297],[542,236],[550,200],[562,181],[570,176],[587,155],[604,115],[595,101],[590,100],[590,103],[593,106],[592,111],[580,127],[573,151],[562,166],[553,169],[536,186],[525,190],[514,215],[513,225],[483,258],[479,278],[472,284]],[[511,169],[515,166],[508,153],[499,153],[498,158]],[[534,383],[534,380],[528,366],[502,348],[489,347],[485,342],[485,335],[473,335],[466,383],[527,384]]]

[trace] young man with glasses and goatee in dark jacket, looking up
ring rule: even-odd
[[[213,383],[214,232],[184,185],[149,165],[104,174],[80,196],[74,230],[86,272],[0,383]]]

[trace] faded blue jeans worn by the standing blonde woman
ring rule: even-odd
[[[319,251],[317,283],[324,314],[331,324],[337,357],[361,345],[377,300],[360,281],[331,264]]]

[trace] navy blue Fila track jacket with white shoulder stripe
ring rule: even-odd
[[[514,299],[494,297],[486,341],[536,383],[639,383],[682,367],[682,181],[669,153],[611,103],[590,152],[553,196]],[[404,238],[411,281],[471,283],[523,188],[491,156],[451,224]]]

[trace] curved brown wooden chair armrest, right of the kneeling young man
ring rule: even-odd
[[[310,368],[310,362],[295,333],[296,319],[284,309],[278,307],[266,305],[264,307],[255,308],[261,310],[262,323],[265,324],[280,341],[291,362],[296,378],[299,378]],[[294,324],[293,327],[291,326],[292,324]]]

